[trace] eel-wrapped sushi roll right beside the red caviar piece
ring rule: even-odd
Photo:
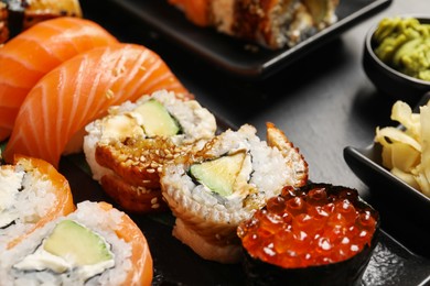
[[[256,133],[249,124],[227,130],[163,168],[162,195],[176,217],[173,235],[205,260],[237,263],[239,222],[284,185],[308,180],[308,164],[283,132],[268,124],[272,145]]]

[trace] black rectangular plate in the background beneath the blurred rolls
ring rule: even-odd
[[[292,48],[251,51],[247,43],[190,23],[166,0],[109,0],[151,25],[160,34],[217,68],[244,78],[265,78],[294,63],[322,44],[338,36],[367,16],[377,13],[391,0],[341,1],[338,21]],[[139,28],[137,28],[139,29]]]

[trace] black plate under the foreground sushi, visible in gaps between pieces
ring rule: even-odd
[[[236,129],[218,118],[218,132]],[[63,157],[61,173],[68,179],[74,201],[107,201],[117,206],[92,179],[83,154]],[[150,245],[154,278],[152,285],[246,285],[240,264],[205,261],[172,235],[171,212],[151,216],[130,215]],[[383,219],[384,226],[384,219]],[[427,244],[426,249],[430,249]],[[363,276],[363,286],[426,285],[430,283],[430,260],[412,252],[390,237],[383,227],[380,239]]]

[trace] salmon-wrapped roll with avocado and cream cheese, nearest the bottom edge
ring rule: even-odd
[[[148,242],[123,212],[83,201],[0,253],[2,285],[151,285]]]

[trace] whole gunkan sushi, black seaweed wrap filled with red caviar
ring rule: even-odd
[[[357,190],[286,187],[237,229],[249,285],[361,285],[379,215]]]

